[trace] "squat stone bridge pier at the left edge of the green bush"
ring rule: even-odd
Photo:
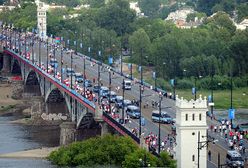
[[[63,122],[60,124],[60,145],[68,145],[76,140],[76,123]]]

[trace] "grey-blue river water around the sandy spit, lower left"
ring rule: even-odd
[[[0,154],[59,145],[59,129],[54,126],[23,126],[10,121],[21,115],[0,116]],[[54,168],[41,159],[0,158],[0,168]]]

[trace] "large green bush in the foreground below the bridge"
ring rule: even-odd
[[[72,143],[52,152],[48,159],[59,166],[122,165],[123,167],[139,167],[141,164],[139,159],[143,158],[144,155],[147,156],[147,162],[152,166],[172,165],[171,163],[174,163],[171,158],[161,157],[158,159],[147,151],[139,149],[129,137],[116,135],[105,135]]]

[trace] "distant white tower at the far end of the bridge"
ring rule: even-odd
[[[43,2],[37,1],[37,28],[41,39],[47,38],[46,8]]]

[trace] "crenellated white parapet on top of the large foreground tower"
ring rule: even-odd
[[[183,97],[178,98],[178,95],[176,95],[176,107],[178,108],[207,108],[207,98],[204,97],[202,99],[202,96],[200,95],[198,99],[196,100],[186,100]]]

